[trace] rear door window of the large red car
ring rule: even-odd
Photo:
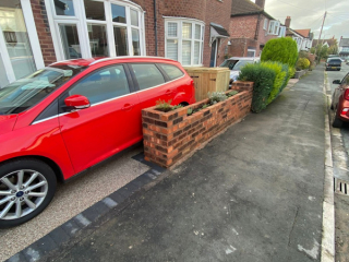
[[[146,90],[165,83],[164,75],[153,63],[133,63],[131,68],[140,90]]]

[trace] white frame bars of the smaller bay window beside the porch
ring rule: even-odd
[[[204,35],[205,35],[205,23],[200,20],[186,19],[186,17],[165,17],[165,57],[167,57],[167,40],[174,39],[178,40],[178,61],[182,63],[182,41],[190,40],[191,41],[191,62],[190,64],[185,64],[185,67],[201,67],[203,66],[203,48],[204,48]],[[168,36],[168,23],[177,24],[177,37]],[[183,23],[189,23],[192,25],[192,35],[191,38],[183,38],[182,36],[182,27]],[[195,25],[201,26],[200,39],[195,38]],[[200,45],[200,53],[198,53],[198,63],[194,63],[194,44],[201,43]]]

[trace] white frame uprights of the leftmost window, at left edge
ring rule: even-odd
[[[28,40],[31,44],[35,67],[37,70],[43,69],[45,68],[45,63],[44,63],[44,58],[43,58],[41,48],[39,44],[39,38],[38,38],[36,26],[35,26],[31,0],[21,0],[21,5],[22,5],[23,17],[26,26],[26,32],[28,34]],[[1,28],[0,28],[0,53],[4,64],[4,70],[5,70],[8,81],[9,83],[12,83],[16,80],[16,78],[14,74],[14,70],[12,68],[11,58],[9,56]]]

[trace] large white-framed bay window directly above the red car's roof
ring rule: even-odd
[[[145,56],[144,11],[122,0],[45,0],[58,60]]]

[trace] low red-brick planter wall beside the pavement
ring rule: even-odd
[[[231,90],[240,93],[191,116],[186,116],[189,108],[201,108],[208,99],[169,112],[158,111],[155,107],[143,109],[145,159],[170,167],[241,120],[251,109],[253,82],[234,82]]]

